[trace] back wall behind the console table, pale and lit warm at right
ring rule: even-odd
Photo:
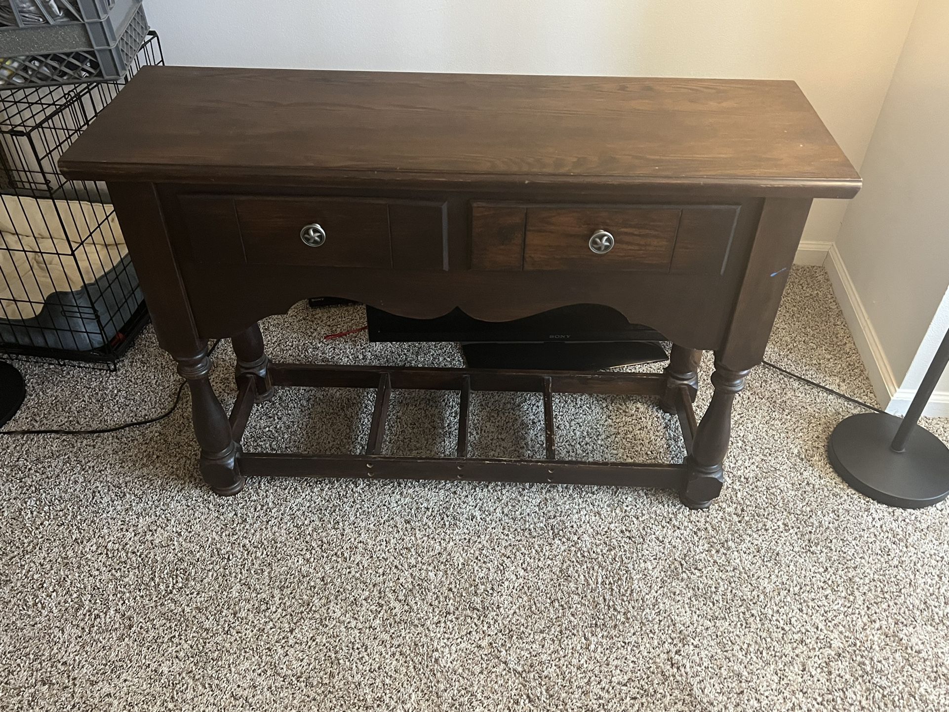
[[[860,166],[917,0],[160,0],[171,64],[793,79]],[[846,206],[818,200],[804,239]]]

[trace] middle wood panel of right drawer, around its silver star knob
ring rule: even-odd
[[[668,272],[680,215],[678,208],[529,208],[524,269]],[[614,239],[602,254],[589,245],[600,230]]]

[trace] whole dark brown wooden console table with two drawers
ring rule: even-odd
[[[158,333],[192,394],[201,471],[722,486],[732,402],[761,362],[815,197],[860,178],[792,82],[144,67],[60,160],[108,182]],[[257,328],[307,297],[502,321],[618,309],[675,343],[663,374],[270,364]],[[230,337],[230,417],[208,381]],[[698,349],[715,392],[697,424]],[[377,388],[365,454],[243,452],[280,386]],[[393,388],[456,389],[453,458],[380,454]],[[547,459],[471,459],[474,390],[537,391]],[[658,397],[682,464],[555,459],[553,393]]]

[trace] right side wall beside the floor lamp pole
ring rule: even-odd
[[[943,304],[949,286],[946,0],[919,4],[862,174],[864,190],[847,211],[828,267],[838,281],[840,272],[847,274],[838,298],[854,311],[850,327],[878,397],[887,403],[896,395],[889,409],[902,412],[949,326]],[[928,412],[949,415],[947,405],[949,377],[943,377]]]

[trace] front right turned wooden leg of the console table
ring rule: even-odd
[[[685,459],[685,482],[679,493],[682,502],[692,509],[706,509],[721,492],[724,483],[721,465],[732,437],[732,403],[735,394],[745,386],[749,373],[748,370],[729,370],[716,360],[712,374],[715,393],[698,423],[692,455]]]

